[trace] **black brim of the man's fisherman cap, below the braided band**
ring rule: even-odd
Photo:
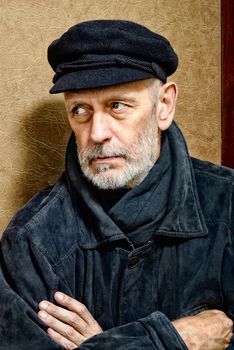
[[[57,94],[65,91],[95,89],[154,77],[153,74],[147,71],[131,67],[105,67],[92,70],[79,70],[67,73],[59,78],[50,89],[50,93]]]

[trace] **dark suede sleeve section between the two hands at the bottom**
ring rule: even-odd
[[[112,328],[85,341],[77,350],[188,350],[173,324],[161,312]]]

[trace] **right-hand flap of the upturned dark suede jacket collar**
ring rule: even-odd
[[[208,230],[185,139],[175,122],[166,134],[172,155],[173,176],[167,213],[158,233],[181,238],[206,236]]]

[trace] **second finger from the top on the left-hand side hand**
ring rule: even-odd
[[[72,326],[80,334],[89,336],[89,326],[82,320],[77,314],[70,310],[66,310],[63,307],[56,306],[48,301],[42,301],[39,304],[40,310],[46,311],[49,315],[54,318]],[[92,334],[91,334],[92,335]],[[91,336],[90,335],[90,336]]]

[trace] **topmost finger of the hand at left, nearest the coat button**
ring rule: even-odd
[[[96,320],[93,318],[92,314],[86,308],[86,306],[80,303],[78,300],[69,297],[61,292],[56,292],[54,295],[55,300],[60,304],[65,306],[67,309],[74,311],[79,315],[86,323],[90,326],[96,325]]]

